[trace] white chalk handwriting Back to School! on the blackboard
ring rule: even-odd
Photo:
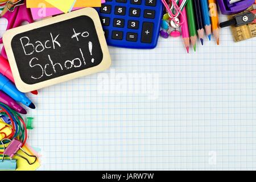
[[[76,32],[75,28],[73,28],[73,35],[71,36],[71,39],[79,40],[81,38],[88,38],[89,32]],[[28,36],[23,36],[20,38],[20,43],[24,51],[24,55],[30,56],[36,53],[41,53],[45,51],[46,49],[57,49],[61,48],[61,43],[58,41],[60,34],[53,34],[52,32],[49,33],[49,39],[40,41],[36,40],[35,42],[32,42]],[[88,49],[90,56],[93,56],[93,43],[88,42]],[[88,50],[84,50],[88,51]],[[61,61],[61,57],[54,57],[53,55],[46,55],[46,60],[39,60],[37,56],[32,57],[32,59],[29,61],[30,68],[36,68],[39,71],[37,73],[33,73],[35,75],[32,75],[31,78],[34,80],[39,80],[40,78],[47,76],[51,77],[52,75],[65,71],[72,68],[80,68],[84,65],[86,65],[84,52],[81,48],[79,48],[79,57],[75,57],[73,60],[65,60]],[[90,61],[94,63],[94,58],[90,58]]]

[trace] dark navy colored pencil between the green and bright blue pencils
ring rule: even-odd
[[[201,44],[204,45],[204,19],[203,13],[201,12],[201,3],[200,0],[193,0],[194,13],[196,18],[196,30],[201,41]]]

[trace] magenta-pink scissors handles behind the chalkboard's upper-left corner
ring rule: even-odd
[[[32,18],[32,14],[30,9],[27,9],[26,3],[24,2],[21,5],[17,5],[16,8],[11,11],[7,11],[5,15],[2,16],[8,20],[6,30],[10,30],[11,28],[19,27],[22,25],[23,22],[33,23],[34,20]],[[0,44],[3,43],[3,39],[0,38]],[[5,47],[2,48],[1,55],[7,59]]]

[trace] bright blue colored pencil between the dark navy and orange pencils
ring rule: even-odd
[[[212,25],[210,24],[208,0],[201,0],[201,8],[203,12],[205,32],[210,40],[210,36],[212,34]]]

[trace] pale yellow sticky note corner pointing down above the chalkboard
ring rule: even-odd
[[[56,7],[60,11],[63,11],[63,13],[68,13],[73,8],[76,0],[45,0],[52,6]]]

